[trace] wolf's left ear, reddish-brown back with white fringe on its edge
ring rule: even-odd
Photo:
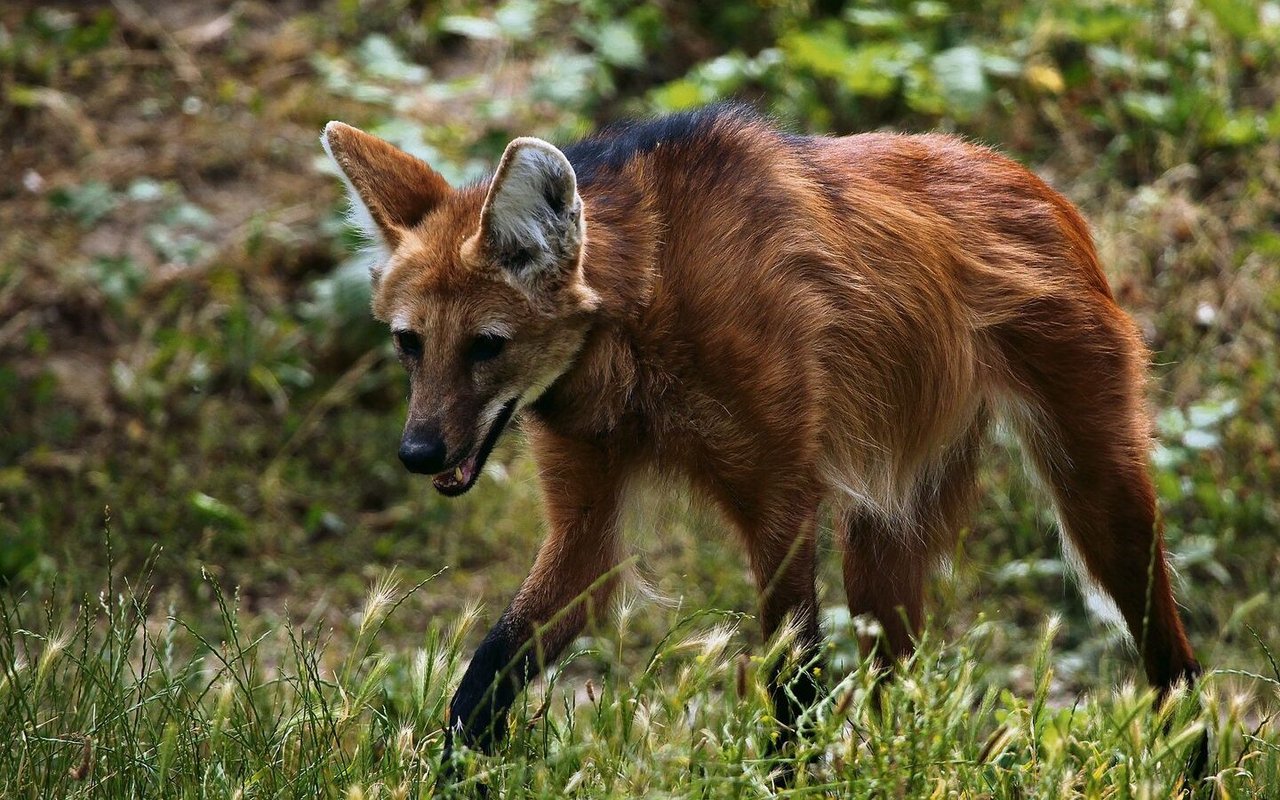
[[[325,125],[320,142],[342,172],[356,224],[387,250],[394,250],[404,230],[451,191],[424,161],[340,122]]]

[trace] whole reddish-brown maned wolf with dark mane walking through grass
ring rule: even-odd
[[[680,475],[746,545],[772,634],[819,645],[814,538],[837,513],[850,611],[910,652],[993,420],[1164,694],[1199,673],[1147,474],[1147,351],[1061,195],[950,136],[794,136],[722,105],[507,146],[452,188],[342,123],[324,145],[370,238],[410,374],[399,457],[467,492],[515,415],[548,535],[451,705],[492,749],[616,584],[618,508]],[[786,733],[813,675],[771,685]],[[786,740],[786,736],[783,736]]]

